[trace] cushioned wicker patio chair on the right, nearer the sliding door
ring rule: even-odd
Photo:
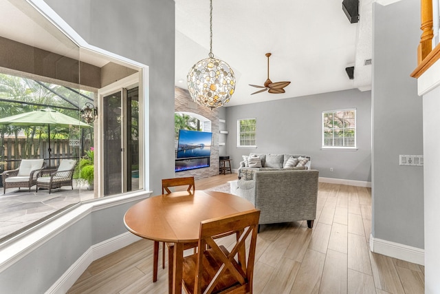
[[[52,189],[61,188],[63,186],[71,186],[74,189],[72,178],[74,177],[74,169],[76,160],[63,159],[61,160],[58,169],[45,169],[40,171],[36,178],[36,192],[39,188]]]

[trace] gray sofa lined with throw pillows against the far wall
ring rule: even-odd
[[[306,158],[306,160],[304,160]],[[253,171],[311,169],[311,158],[298,154],[256,154],[243,156],[238,169],[239,179]]]

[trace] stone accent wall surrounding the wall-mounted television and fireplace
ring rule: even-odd
[[[212,146],[210,156],[210,167],[201,169],[190,169],[189,171],[179,171],[175,173],[177,178],[194,176],[195,179],[208,178],[219,174],[219,109],[210,109],[193,102],[188,90],[175,87],[175,112],[192,112],[211,120]]]

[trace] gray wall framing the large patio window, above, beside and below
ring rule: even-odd
[[[160,180],[174,176],[174,1],[46,2],[91,45],[149,65],[148,180],[159,193]],[[26,255],[0,273],[0,292],[44,293],[91,245],[126,232],[122,218],[132,204],[95,211]]]

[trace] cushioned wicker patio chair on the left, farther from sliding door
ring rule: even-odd
[[[36,175],[43,170],[43,159],[22,159],[18,169],[3,171],[3,193],[8,188],[29,188],[36,184]]]

